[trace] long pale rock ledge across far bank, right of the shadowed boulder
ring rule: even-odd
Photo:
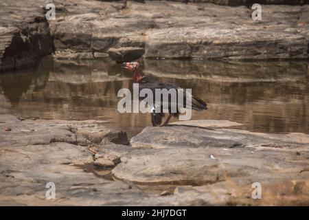
[[[308,5],[262,5],[262,21],[253,21],[244,5],[65,2],[68,12],[50,23],[55,55],[64,58],[67,52],[90,58],[119,47],[141,47],[144,57],[155,59],[308,58]]]

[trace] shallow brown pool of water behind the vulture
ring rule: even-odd
[[[306,61],[143,61],[144,74],[192,88],[209,110],[192,119],[231,120],[267,133],[309,133]],[[24,118],[99,119],[129,135],[150,126],[150,115],[119,113],[117,91],[132,74],[106,59],[52,61],[0,74],[0,113]],[[172,119],[176,120],[176,119]]]

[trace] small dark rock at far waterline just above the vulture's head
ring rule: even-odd
[[[131,62],[143,56],[145,50],[141,47],[120,47],[111,48],[108,54],[113,61],[117,63]]]

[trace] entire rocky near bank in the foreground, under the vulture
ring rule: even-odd
[[[175,122],[129,142],[104,121],[0,115],[0,204],[308,206],[309,135],[237,126]]]

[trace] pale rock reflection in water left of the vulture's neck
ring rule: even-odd
[[[130,88],[124,70],[107,61],[56,61],[45,88],[45,100],[66,100],[73,105],[117,105],[119,89]],[[57,94],[57,96],[55,96]]]

